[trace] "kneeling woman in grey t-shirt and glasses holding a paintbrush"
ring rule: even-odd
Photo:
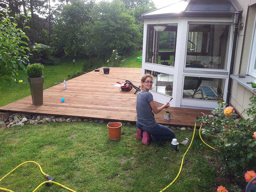
[[[172,140],[175,138],[174,132],[164,125],[160,125],[156,122],[154,113],[157,114],[164,108],[170,106],[169,102],[161,107],[156,107],[153,100],[153,95],[149,92],[153,85],[153,76],[145,74],[141,78],[141,91],[137,94],[137,133],[136,138],[141,139],[142,143],[149,145],[150,135],[152,135],[152,141],[158,142],[163,140]],[[153,112],[154,113],[153,113]]]

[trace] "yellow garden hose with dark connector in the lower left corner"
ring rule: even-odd
[[[14,168],[13,170],[11,170],[9,173],[7,173],[5,176],[3,176],[3,177],[0,179],[0,182],[1,182],[6,176],[8,176],[10,173],[12,173],[15,169],[17,169],[17,168],[20,167],[21,165],[24,165],[25,163],[34,163],[34,164],[38,165],[38,167],[40,168],[41,173],[48,179],[48,181],[45,181],[45,182],[41,183],[40,185],[38,185],[38,186],[34,189],[34,191],[32,191],[32,192],[35,192],[37,189],[39,189],[39,188],[40,188],[42,185],[44,185],[44,184],[46,184],[47,186],[50,186],[51,183],[54,183],[54,184],[56,184],[56,185],[59,185],[60,187],[62,187],[62,188],[64,188],[64,189],[67,189],[67,190],[69,190],[69,191],[76,192],[76,191],[74,191],[74,190],[72,190],[72,189],[70,189],[70,188],[68,188],[68,187],[66,187],[66,186],[64,186],[64,185],[62,185],[62,184],[60,184],[60,183],[57,183],[57,182],[53,181],[53,180],[54,180],[54,177],[45,174],[45,173],[43,172],[43,170],[42,170],[42,167],[41,167],[37,162],[35,162],[35,161],[26,161],[26,162],[23,162],[23,163],[19,164],[17,167],[15,167],[15,168]],[[10,190],[10,189],[6,189],[6,188],[2,188],[2,187],[0,187],[0,190],[2,190],[2,191],[8,191],[8,192],[14,192],[14,191],[12,191],[12,190]]]

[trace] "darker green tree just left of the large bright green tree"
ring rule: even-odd
[[[72,0],[55,14],[52,46],[59,54],[84,56],[88,53],[94,1]]]

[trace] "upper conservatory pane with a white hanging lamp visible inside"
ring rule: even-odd
[[[174,66],[178,24],[148,25],[146,62]]]

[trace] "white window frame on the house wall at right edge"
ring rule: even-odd
[[[254,19],[252,44],[251,44],[249,61],[248,61],[248,69],[247,69],[248,75],[256,77],[256,69],[254,69],[255,65],[256,65],[256,14]]]

